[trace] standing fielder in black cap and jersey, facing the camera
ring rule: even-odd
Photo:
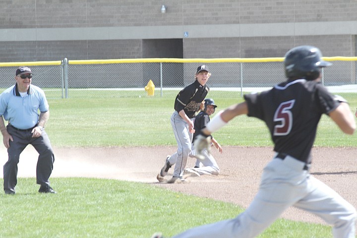
[[[211,76],[207,65],[197,67],[195,81],[183,88],[175,99],[175,112],[171,116],[171,125],[174,130],[175,138],[178,143],[177,151],[168,156],[165,160],[165,165],[157,176],[159,181],[164,181],[164,178],[169,169],[175,164],[173,178],[169,183],[174,183],[177,179],[185,182],[183,179],[183,171],[185,169],[187,158],[191,152],[192,136],[193,136],[193,118],[196,112],[201,108],[201,104],[205,99],[209,88],[206,83]]]

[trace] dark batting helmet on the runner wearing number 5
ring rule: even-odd
[[[298,46],[285,54],[285,75],[306,80],[318,78],[322,67],[332,63],[321,59],[321,51],[314,46]]]

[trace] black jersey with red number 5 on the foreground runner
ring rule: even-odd
[[[335,110],[334,100],[321,83],[297,79],[276,85],[260,94],[244,95],[249,117],[267,124],[276,152],[305,163],[311,162],[317,124],[322,114]]]

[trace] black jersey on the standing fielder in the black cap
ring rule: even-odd
[[[209,88],[206,85],[202,86],[195,80],[176,96],[174,109],[178,112],[183,109],[188,118],[194,118],[208,92]]]

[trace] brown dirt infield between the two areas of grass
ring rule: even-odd
[[[255,195],[263,167],[273,156],[271,147],[223,147],[223,154],[213,150],[221,169],[219,176],[189,177],[185,184],[161,184],[156,180],[167,155],[176,147],[54,148],[56,161],[52,178],[86,177],[145,182],[164,188],[232,202],[247,207]],[[322,180],[357,207],[357,148],[313,148],[311,174]],[[0,149],[1,163],[7,153]],[[35,177],[37,152],[28,146],[20,156],[19,177]],[[194,165],[189,158],[188,166]],[[172,175],[172,169],[169,175]],[[2,173],[2,170],[1,170]],[[1,174],[2,177],[2,174]],[[169,177],[170,178],[170,177]],[[52,183],[56,190],[56,184]],[[324,222],[296,208],[289,208],[282,218],[313,223]]]

